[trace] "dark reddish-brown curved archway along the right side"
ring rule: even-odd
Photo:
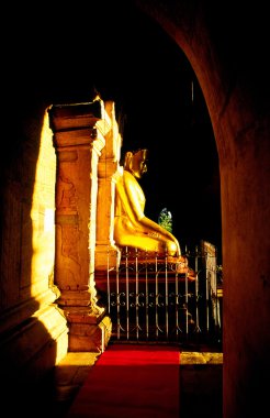
[[[258,376],[267,380],[270,346],[262,331],[270,323],[266,10],[230,2],[221,10],[212,2],[137,3],[184,51],[210,112],[221,173],[224,416],[252,416],[267,399]]]

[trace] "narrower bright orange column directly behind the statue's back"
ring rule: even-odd
[[[98,167],[98,205],[97,205],[97,245],[95,245],[95,280],[106,274],[108,267],[115,267],[120,258],[120,250],[114,245],[114,196],[115,177],[122,139],[115,120],[114,102],[105,102],[105,111],[110,118],[111,129],[105,135]]]

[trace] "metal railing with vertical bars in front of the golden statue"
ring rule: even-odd
[[[122,250],[120,265],[108,271],[102,299],[112,319],[112,340],[221,343],[216,260],[198,248],[184,257],[188,268],[167,255]]]

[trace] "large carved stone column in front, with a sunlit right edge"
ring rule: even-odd
[[[57,155],[57,300],[69,324],[69,351],[103,351],[110,319],[97,306],[94,286],[98,162],[110,129],[101,100],[53,106],[50,128]]]

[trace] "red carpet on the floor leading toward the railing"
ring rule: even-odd
[[[68,418],[179,418],[179,365],[176,346],[109,345]]]

